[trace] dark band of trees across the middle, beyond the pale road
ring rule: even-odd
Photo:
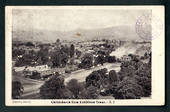
[[[75,48],[74,44],[62,45],[60,40],[57,39],[55,45],[50,44],[38,44],[38,50],[35,50],[35,46],[31,42],[14,44],[15,47],[27,46],[26,48],[12,50],[13,60],[16,61],[15,66],[36,66],[47,64],[50,67],[65,67],[67,64],[74,64],[74,57],[81,61],[78,65],[79,68],[90,68],[97,64],[104,64],[106,62],[116,62],[115,56],[109,56],[113,51],[113,46],[107,44],[98,45],[98,47],[104,46],[104,50],[98,50],[94,56],[93,53],[82,53]],[[51,46],[54,46],[53,49]],[[83,54],[83,56],[82,56]]]

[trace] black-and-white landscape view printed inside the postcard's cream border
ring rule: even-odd
[[[151,21],[140,37],[142,16],[151,10],[12,10],[12,98],[150,97]]]

